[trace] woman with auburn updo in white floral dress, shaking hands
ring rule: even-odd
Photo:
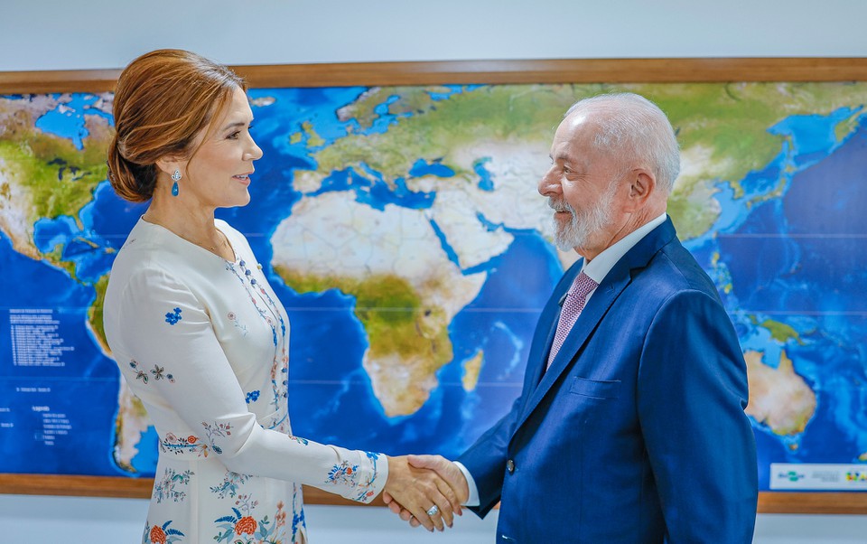
[[[262,156],[245,90],[177,50],[144,54],[117,81],[109,180],[151,201],[105,299],[108,344],[160,438],[143,541],[304,542],[302,484],[359,502],[385,490],[443,530],[460,506],[435,474],[292,435],[288,316],[247,239],[214,218],[249,202]]]

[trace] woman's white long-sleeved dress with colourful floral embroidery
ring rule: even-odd
[[[302,542],[301,484],[369,502],[387,459],[293,436],[288,316],[215,224],[235,262],[139,220],[109,277],[107,341],[160,438],[143,542]]]

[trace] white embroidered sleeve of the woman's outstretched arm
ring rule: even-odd
[[[165,271],[136,270],[113,319],[119,326],[113,328],[117,336],[112,347],[128,359],[118,364],[135,393],[146,400],[158,430],[171,432],[168,440],[161,436],[167,447],[183,430],[165,429],[174,414],[191,431],[188,444],[199,443],[205,455],[216,455],[235,473],[303,483],[360,502],[371,501],[382,490],[385,455],[325,446],[260,425],[247,406],[250,393],[238,381],[243,372],[256,370],[237,363],[233,367],[218,342],[214,317]],[[275,322],[276,316],[269,319]],[[269,330],[256,341],[273,350],[275,334]],[[255,352],[248,355],[256,357]],[[272,376],[272,382],[281,379]]]

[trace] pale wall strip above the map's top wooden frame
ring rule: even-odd
[[[855,56],[862,0],[2,0],[0,70],[120,68],[160,47],[227,64]]]

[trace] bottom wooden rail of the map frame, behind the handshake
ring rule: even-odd
[[[54,474],[0,474],[0,493],[21,495],[66,495],[147,499],[151,478],[107,476],[61,476]],[[304,487],[304,502],[310,504],[360,505],[322,490]],[[371,503],[384,506],[378,497]],[[760,492],[759,513],[775,514],[867,514],[867,492]]]

